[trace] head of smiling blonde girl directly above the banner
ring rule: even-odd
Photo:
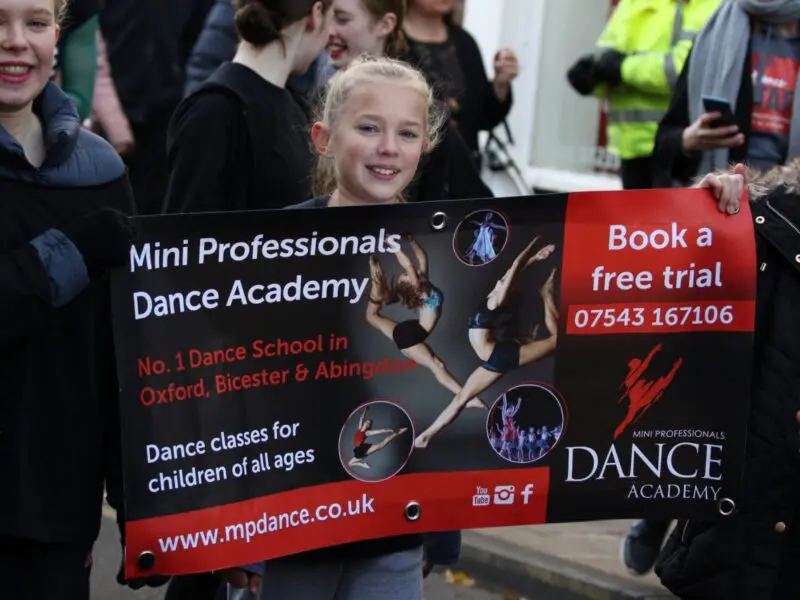
[[[353,61],[329,83],[311,129],[319,156],[315,189],[322,193],[304,205],[402,201],[444,119],[417,70],[388,58]]]

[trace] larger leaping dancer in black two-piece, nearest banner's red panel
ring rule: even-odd
[[[504,339],[499,333],[513,319],[514,315],[507,303],[510,292],[517,284],[522,272],[533,263],[547,259],[555,246],[550,244],[534,252],[539,242],[536,236],[514,259],[511,267],[489,292],[486,300],[478,307],[469,320],[469,342],[478,358],[483,361],[467,379],[462,390],[455,395],[450,404],[441,412],[428,429],[414,442],[417,448],[426,448],[431,439],[452,423],[467,403],[485,392],[509,371],[523,367],[549,356],[556,349],[558,337],[558,307],[553,298],[556,269],[539,290],[544,301],[544,324],[549,337],[543,340]]]

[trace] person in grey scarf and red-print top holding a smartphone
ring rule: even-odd
[[[656,184],[800,155],[800,0],[727,0],[697,37],[656,135]]]

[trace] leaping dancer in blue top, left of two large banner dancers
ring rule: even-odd
[[[397,349],[403,355],[430,370],[436,381],[442,386],[452,393],[458,394],[461,392],[461,384],[456,381],[444,362],[425,343],[439,322],[444,296],[442,291],[434,286],[428,278],[428,255],[425,250],[410,235],[406,234],[405,237],[417,264],[411,262],[411,259],[402,250],[398,251],[395,256],[403,273],[392,285],[387,281],[378,257],[373,255],[369,259],[372,289],[367,304],[367,323],[394,341]],[[384,306],[398,301],[405,308],[416,311],[418,318],[398,323],[381,314]],[[488,408],[477,397],[468,398],[466,406],[468,408]]]

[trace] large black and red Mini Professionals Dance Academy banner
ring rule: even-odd
[[[705,190],[142,217],[126,573],[740,496],[746,205]]]

